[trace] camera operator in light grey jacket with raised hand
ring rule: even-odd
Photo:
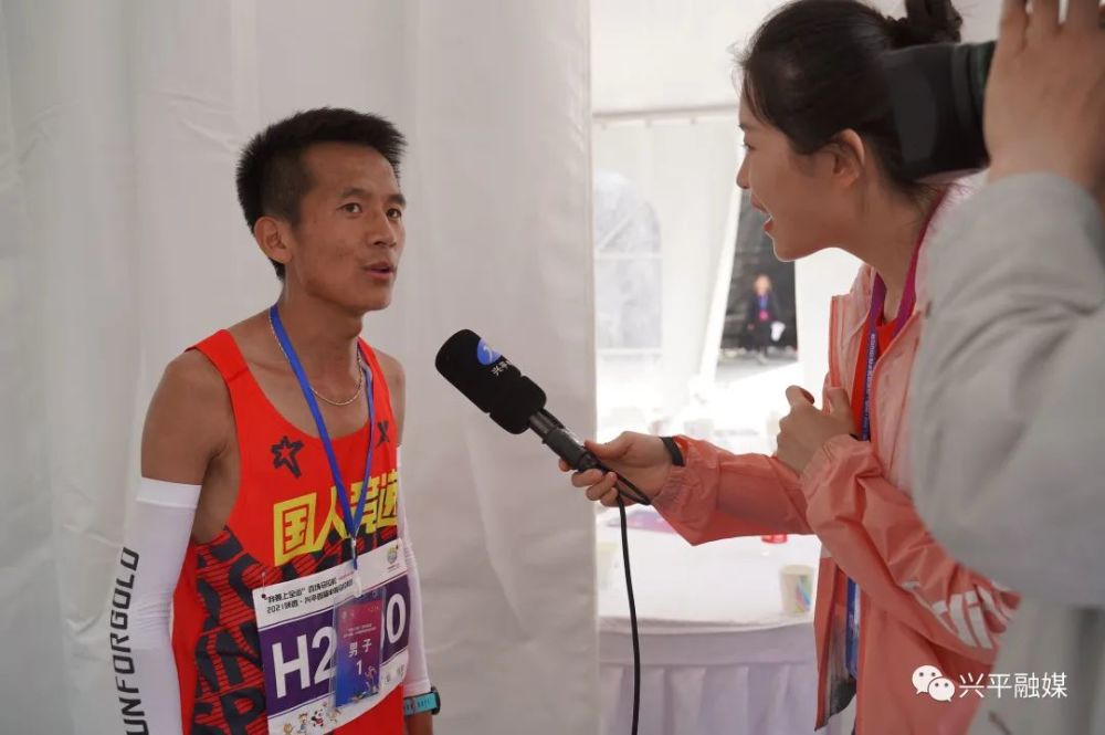
[[[1069,0],[1062,19],[1059,0],[1006,0],[990,180],[928,253],[914,502],[954,556],[1022,595],[985,693],[967,692],[986,700],[972,735],[1105,733],[1098,2]]]

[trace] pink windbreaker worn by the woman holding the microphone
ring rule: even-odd
[[[929,238],[946,209],[937,213]],[[681,437],[686,466],[673,468],[654,501],[692,544],[775,533],[820,537],[817,727],[848,679],[848,575],[861,589],[856,735],[966,733],[982,702],[978,694],[996,696],[987,674],[1018,602],[1008,589],[948,556],[911,500],[906,406],[927,304],[924,262],[917,308],[875,367],[870,442],[835,437],[799,476],[776,458],[735,455]],[[832,301],[827,388],[851,393],[873,280],[864,265],[851,293]],[[917,693],[913,673],[923,665],[936,666],[956,686],[950,702]],[[964,687],[977,683],[980,691]]]

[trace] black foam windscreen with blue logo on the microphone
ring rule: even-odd
[[[471,329],[461,329],[445,340],[434,365],[449,382],[511,433],[525,432],[529,418],[545,408],[545,391]]]

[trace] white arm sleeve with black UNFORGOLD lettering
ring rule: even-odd
[[[127,735],[181,733],[169,609],[199,495],[199,485],[143,477],[123,535],[108,639]]]

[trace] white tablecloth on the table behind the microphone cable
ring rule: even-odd
[[[628,735],[633,654],[620,532],[610,525],[617,517],[612,512],[599,519],[600,685],[604,732]],[[638,519],[664,525],[651,515]],[[692,547],[673,533],[631,528],[630,553],[641,630],[640,735],[813,732],[812,616],[783,615],[779,568],[817,569],[815,537]],[[851,724],[831,732],[838,731],[850,733]]]

